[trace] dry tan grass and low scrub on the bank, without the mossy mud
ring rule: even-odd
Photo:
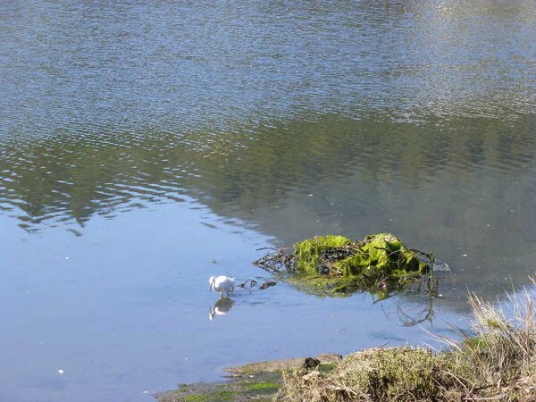
[[[536,322],[528,291],[507,313],[472,295],[472,337],[441,339],[448,351],[375,348],[349,355],[330,373],[284,373],[286,401],[536,402]],[[462,332],[463,333],[463,332]]]

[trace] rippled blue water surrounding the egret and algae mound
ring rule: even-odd
[[[431,342],[467,289],[528,284],[535,22],[527,1],[5,2],[0,400]],[[209,276],[270,278],[258,248],[383,230],[450,265],[443,299],[280,283],[209,321]]]

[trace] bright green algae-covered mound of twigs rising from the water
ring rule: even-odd
[[[420,282],[423,275],[430,274],[433,256],[406,247],[390,233],[363,240],[331,235],[300,241],[255,264],[269,272],[289,274],[287,281],[315,294],[337,296],[368,290],[385,297],[389,290]]]

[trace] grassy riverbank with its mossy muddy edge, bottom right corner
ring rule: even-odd
[[[441,339],[445,350],[372,348],[230,369],[225,383],[183,385],[155,396],[178,401],[536,401],[532,297],[510,297],[509,314],[469,297],[471,336]]]

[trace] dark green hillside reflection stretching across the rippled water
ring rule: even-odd
[[[285,121],[255,137],[147,132],[4,141],[0,205],[30,232],[82,233],[94,215],[111,219],[197,197],[278,244],[392,231],[434,251],[462,293],[467,282],[490,294],[505,277],[524,282],[536,255],[534,116],[419,124],[381,117]]]

